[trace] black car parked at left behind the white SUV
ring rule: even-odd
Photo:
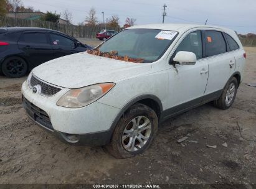
[[[18,78],[41,63],[91,48],[56,30],[0,28],[0,72]]]

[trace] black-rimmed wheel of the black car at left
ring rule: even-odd
[[[20,57],[9,57],[2,63],[1,70],[10,78],[20,78],[27,73],[27,63]]]

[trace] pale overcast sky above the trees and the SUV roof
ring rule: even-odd
[[[24,6],[33,6],[41,12],[65,9],[72,12],[72,23],[85,20],[91,8],[97,12],[99,22],[113,15],[120,17],[120,25],[126,17],[135,18],[136,25],[156,24],[163,21],[163,6],[166,4],[164,23],[221,25],[239,34],[256,34],[255,0],[22,0]]]

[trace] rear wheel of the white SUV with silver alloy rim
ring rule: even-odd
[[[220,109],[229,109],[234,103],[235,96],[237,95],[237,88],[237,79],[233,77],[225,85],[224,91],[222,92],[220,98],[214,101],[214,106]]]

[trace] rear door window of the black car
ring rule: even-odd
[[[47,44],[47,36],[44,32],[24,33],[20,41],[29,44]]]

